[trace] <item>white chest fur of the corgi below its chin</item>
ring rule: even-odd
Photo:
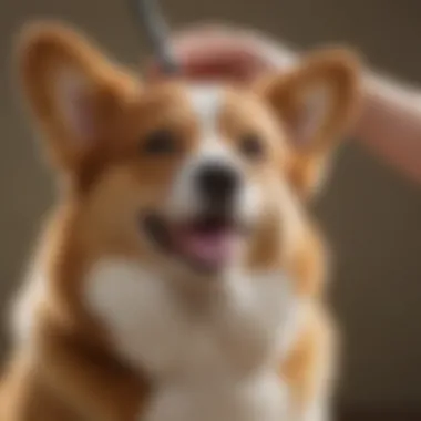
[[[86,283],[89,308],[121,356],[155,380],[146,421],[279,421],[277,376],[296,325],[281,275],[233,276],[186,297],[138,265],[106,260]]]

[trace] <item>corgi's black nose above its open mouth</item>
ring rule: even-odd
[[[209,205],[229,205],[238,185],[237,172],[224,164],[207,164],[197,174],[197,187]]]

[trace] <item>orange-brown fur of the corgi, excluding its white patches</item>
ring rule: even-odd
[[[184,84],[146,85],[59,24],[27,30],[18,58],[23,92],[45,137],[49,162],[64,184],[35,256],[48,278],[48,290],[34,308],[31,342],[17,343],[6,367],[1,420],[134,421],[147,400],[151,380],[117,357],[109,332],[84,307],[82,275],[104,255],[141,255],[151,265],[160,265],[160,256],[138,244],[125,217],[137,205],[163,201],[179,162],[174,157],[157,165],[136,155],[140,140],[165,124],[186,151],[195,147],[197,126],[183,94]],[[92,112],[94,130],[82,142],[75,141],[55,101],[54,83],[69,68],[81,72],[90,85],[81,100]],[[223,133],[235,142],[245,129],[259,131],[268,138],[273,167],[302,201],[319,182],[335,141],[350,122],[357,80],[353,57],[335,50],[315,54],[291,74],[265,78],[251,90],[226,86]],[[291,147],[286,140],[296,134],[300,104],[317,84],[329,90],[328,119],[310,147]],[[278,130],[285,136],[275,145]],[[264,172],[260,166],[249,168],[248,176],[264,179]],[[280,363],[298,407],[311,401],[320,382],[329,381],[335,350],[335,332],[324,304],[326,250],[304,215],[302,233],[286,244],[274,236],[277,215],[268,215],[247,260],[250,268],[287,270],[306,301],[301,331],[288,359]]]

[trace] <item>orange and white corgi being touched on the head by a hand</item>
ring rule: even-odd
[[[1,421],[326,421],[336,335],[306,207],[358,109],[355,54],[146,82],[43,22],[17,55],[59,195]]]

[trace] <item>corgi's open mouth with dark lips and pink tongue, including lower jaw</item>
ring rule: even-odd
[[[191,273],[212,278],[235,265],[251,226],[222,214],[173,220],[148,213],[141,217],[141,229],[158,253]]]

